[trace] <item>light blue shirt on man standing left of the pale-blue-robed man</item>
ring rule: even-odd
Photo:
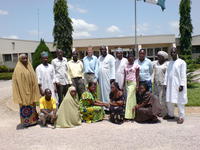
[[[94,73],[95,77],[98,78],[98,59],[92,55],[85,56],[83,58],[84,73]]]

